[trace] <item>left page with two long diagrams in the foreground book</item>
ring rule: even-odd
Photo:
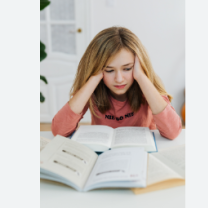
[[[71,181],[82,189],[97,157],[88,147],[58,135],[41,151],[40,167],[42,173]]]

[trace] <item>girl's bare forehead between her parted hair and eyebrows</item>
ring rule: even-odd
[[[134,54],[122,48],[118,53],[108,59],[106,66],[122,66],[128,63],[134,63]]]

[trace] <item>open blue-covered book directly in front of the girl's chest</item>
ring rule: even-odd
[[[157,146],[148,127],[111,128],[104,125],[80,126],[72,140],[88,146],[95,152],[118,147],[144,147],[147,152],[157,152]]]

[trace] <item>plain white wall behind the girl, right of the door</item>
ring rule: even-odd
[[[147,49],[155,72],[162,79],[172,105],[180,115],[185,88],[184,0],[91,0],[91,37],[119,25],[134,32]]]

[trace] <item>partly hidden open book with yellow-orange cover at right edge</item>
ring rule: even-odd
[[[135,194],[185,185],[185,145],[149,154],[147,187],[133,188]]]

